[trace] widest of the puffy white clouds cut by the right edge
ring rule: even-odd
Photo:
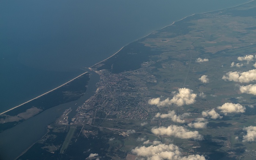
[[[240,83],[248,83],[256,80],[256,69],[247,72],[228,72],[226,76],[222,77],[223,80],[235,81]]]

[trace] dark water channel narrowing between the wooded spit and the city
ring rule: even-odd
[[[89,71],[90,80],[84,95],[75,101],[60,104],[45,110],[38,115],[23,121],[14,127],[0,133],[0,159],[15,159],[36,141],[40,140],[47,132],[47,126],[56,121],[68,108],[72,108],[70,116],[75,115],[75,110],[84,101],[94,95],[99,82],[99,75]]]

